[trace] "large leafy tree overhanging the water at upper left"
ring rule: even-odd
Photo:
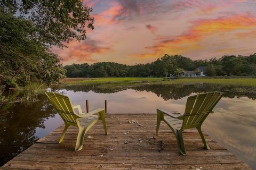
[[[84,40],[92,8],[82,1],[0,1],[0,84],[51,84],[65,77],[51,47]]]

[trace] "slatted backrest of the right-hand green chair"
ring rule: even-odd
[[[222,92],[207,92],[188,97],[182,129],[195,128],[202,124],[222,96]]]

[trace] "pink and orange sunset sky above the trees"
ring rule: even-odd
[[[153,62],[164,54],[193,60],[256,53],[256,0],[85,0],[87,39],[52,51],[73,63]]]

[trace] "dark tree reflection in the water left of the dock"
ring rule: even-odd
[[[45,128],[45,118],[54,117],[53,107],[43,95],[39,101],[10,103],[0,108],[0,166],[27,149],[38,137],[36,128]]]

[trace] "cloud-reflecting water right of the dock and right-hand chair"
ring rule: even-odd
[[[256,168],[256,106],[246,97],[223,98],[203,129],[244,162]]]

